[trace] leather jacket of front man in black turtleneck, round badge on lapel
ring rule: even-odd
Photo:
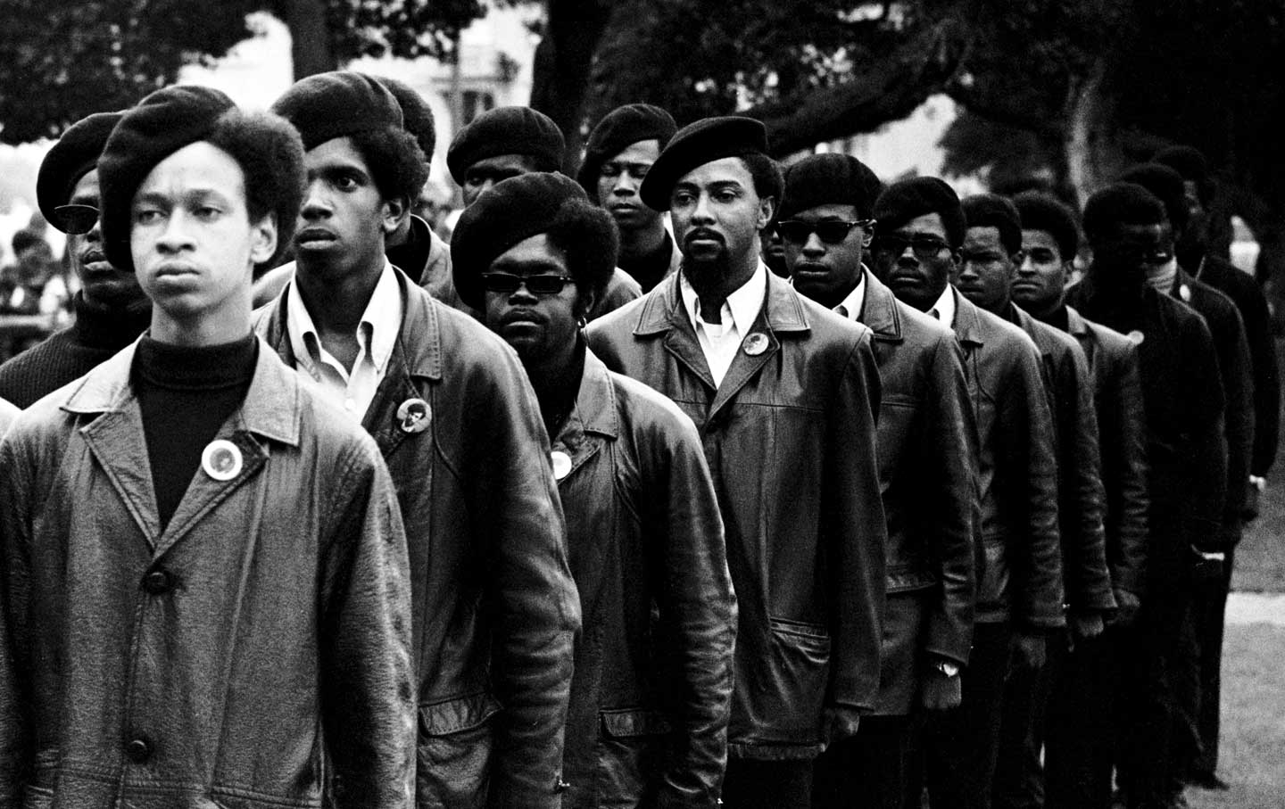
[[[405,809],[410,582],[379,451],[260,347],[162,530],[134,347],[0,444],[0,805]]]

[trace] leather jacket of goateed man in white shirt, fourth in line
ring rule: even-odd
[[[870,711],[879,686],[879,372],[869,329],[763,274],[763,306],[721,385],[681,272],[591,322],[589,343],[700,430],[739,610],[729,755],[811,759],[825,709]]]

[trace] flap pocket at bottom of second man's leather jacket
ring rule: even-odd
[[[419,708],[415,804],[419,809],[486,806],[492,718],[500,704],[473,693]]]

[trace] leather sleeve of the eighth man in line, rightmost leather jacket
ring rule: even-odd
[[[1137,348],[1124,342],[1114,372],[1097,392],[1106,489],[1106,556],[1112,587],[1141,596],[1146,569],[1146,410]]]

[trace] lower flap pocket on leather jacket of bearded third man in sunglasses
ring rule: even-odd
[[[649,805],[655,795],[660,738],[669,724],[650,710],[604,710],[598,756],[598,801],[603,809]]]

